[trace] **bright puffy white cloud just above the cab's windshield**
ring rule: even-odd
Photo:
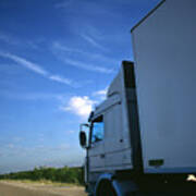
[[[61,108],[64,111],[70,111],[81,118],[88,118],[90,111],[93,110],[95,101],[89,99],[89,97],[74,96],[70,99],[66,107]]]

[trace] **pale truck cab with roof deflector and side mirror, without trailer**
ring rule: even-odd
[[[88,140],[83,132],[84,126],[89,128]],[[96,184],[102,173],[142,170],[133,62],[122,62],[108,89],[107,99],[96,107],[88,124],[83,124],[81,128],[81,144],[87,149],[87,182]]]

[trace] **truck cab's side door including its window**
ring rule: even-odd
[[[99,115],[91,123],[88,149],[89,171],[100,171],[105,168],[105,123]]]

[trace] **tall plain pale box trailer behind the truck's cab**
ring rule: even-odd
[[[132,38],[144,171],[196,173],[196,1],[164,1]]]

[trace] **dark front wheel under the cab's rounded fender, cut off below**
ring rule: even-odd
[[[100,184],[96,196],[118,196],[109,181],[105,181]]]

